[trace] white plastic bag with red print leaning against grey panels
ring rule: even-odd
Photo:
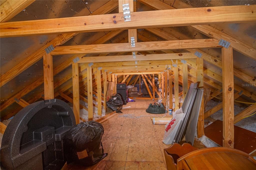
[[[179,124],[182,122],[184,113],[182,107],[173,113],[173,118],[165,125],[164,139],[165,144],[172,144],[175,137],[176,131],[178,130]]]

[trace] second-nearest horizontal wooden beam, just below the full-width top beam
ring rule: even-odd
[[[83,54],[83,53],[118,53],[132,51],[152,51],[188,48],[219,48],[217,39],[193,39],[193,40],[173,40],[173,41],[152,41],[137,42],[135,47],[131,43],[96,44],[96,45],[70,45],[58,46],[51,55]]]

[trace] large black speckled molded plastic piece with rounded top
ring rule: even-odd
[[[19,111],[7,126],[1,147],[2,169],[61,169],[64,139],[76,125],[70,106],[44,100]]]

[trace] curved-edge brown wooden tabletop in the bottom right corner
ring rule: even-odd
[[[177,169],[256,169],[253,157],[237,149],[213,147],[190,152],[177,160]]]

